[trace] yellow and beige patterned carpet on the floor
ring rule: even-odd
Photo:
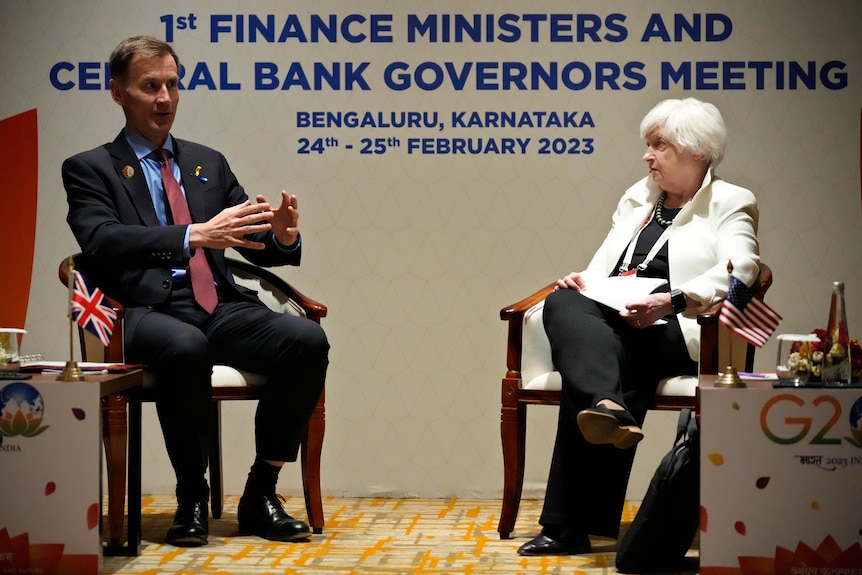
[[[210,543],[196,549],[164,545],[174,499],[145,497],[139,557],[105,557],[103,573],[259,574],[483,574],[616,573],[616,542],[593,539],[593,553],[570,557],[521,557],[517,548],[538,533],[541,502],[521,504],[514,538],[497,534],[498,501],[443,499],[343,499],[324,501],[326,527],[305,543],[273,543],[237,535],[237,497],[227,498],[222,519],[210,523]],[[305,517],[302,498],[285,509]],[[624,523],[636,512],[627,505]],[[689,570],[697,572],[697,552]]]

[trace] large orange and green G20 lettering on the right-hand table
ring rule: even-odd
[[[805,407],[805,400],[801,397],[790,393],[782,393],[763,404],[763,409],[760,410],[760,428],[771,441],[781,445],[791,445],[799,443],[808,437],[809,434],[813,433],[813,436],[808,441],[811,445],[838,445],[841,443],[840,434],[842,431],[849,429],[851,436],[848,437],[845,435],[844,440],[862,449],[862,397],[856,400],[856,403],[850,408],[850,413],[844,418],[842,417],[843,408],[838,399],[832,395],[817,396],[811,404],[818,410],[826,410],[828,417],[826,423],[818,429],[812,429],[813,418],[805,416],[804,412],[800,409],[798,416],[788,415],[783,421],[787,426],[787,430],[796,431],[796,433],[792,435],[779,435],[776,430],[770,427],[769,414],[771,410],[776,409],[778,406],[786,411],[787,405],[785,402],[795,404],[799,408]],[[848,424],[846,428],[841,424],[842,421]]]

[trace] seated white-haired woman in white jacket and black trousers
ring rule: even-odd
[[[714,173],[727,143],[718,109],[665,100],[640,135],[649,174],[623,194],[587,268],[559,279],[545,302],[563,390],[542,532],[522,555],[588,553],[590,535],[617,537],[658,382],[697,373],[696,315],[726,295],[728,261],[747,285],[759,274],[755,197]],[[625,274],[668,283],[622,311],[580,293],[591,277]]]

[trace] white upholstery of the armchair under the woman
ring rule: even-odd
[[[521,389],[559,391],[562,389],[563,378],[560,372],[554,369],[554,362],[551,360],[551,343],[542,323],[544,309],[543,300],[524,314]],[[661,380],[656,395],[694,397],[696,390],[697,376],[677,375]]]

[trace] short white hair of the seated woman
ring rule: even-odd
[[[680,150],[703,154],[712,168],[724,158],[727,127],[718,108],[708,102],[695,98],[659,102],[641,120],[641,138],[658,128],[665,140]]]

